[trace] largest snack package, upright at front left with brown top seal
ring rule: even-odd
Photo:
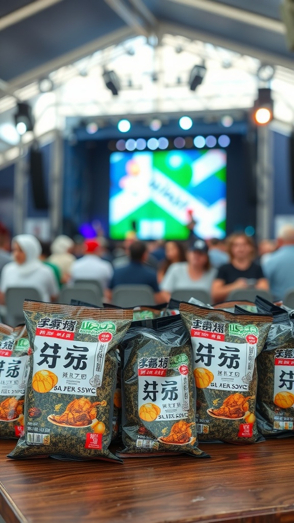
[[[116,347],[132,311],[26,300],[24,313],[33,351],[25,433],[8,457],[118,460],[108,450]]]

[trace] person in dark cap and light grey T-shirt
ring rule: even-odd
[[[216,269],[210,267],[206,242],[198,238],[188,248],[187,261],[173,263],[168,267],[160,284],[164,301],[168,301],[172,293],[179,289],[201,289],[210,294],[216,273]]]

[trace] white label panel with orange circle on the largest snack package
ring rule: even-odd
[[[96,396],[101,386],[108,343],[36,336],[33,388],[41,392]],[[47,371],[46,382],[44,374]],[[34,385],[35,383],[35,385]]]

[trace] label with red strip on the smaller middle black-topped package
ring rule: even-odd
[[[175,360],[171,360],[172,368],[175,368]],[[138,361],[138,410],[144,421],[179,420],[188,417],[187,356],[179,357],[177,365],[183,367],[179,375],[167,376],[167,369],[171,369],[169,363],[168,357],[141,358]]]

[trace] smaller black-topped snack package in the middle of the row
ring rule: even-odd
[[[179,315],[133,322],[121,344],[119,456],[188,453],[198,448],[191,344]]]

